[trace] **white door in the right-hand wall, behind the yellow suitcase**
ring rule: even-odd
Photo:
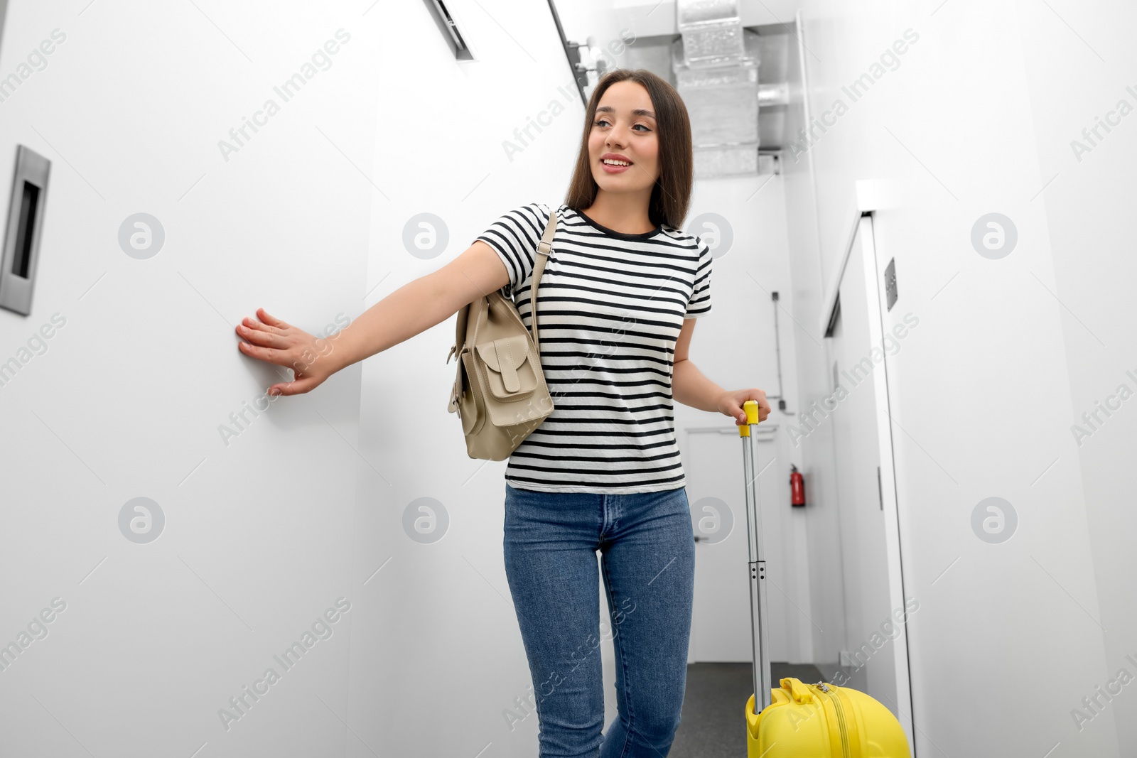
[[[857,224],[827,340],[845,597],[843,669],[848,686],[887,706],[908,730],[912,713],[888,377],[872,217]]]

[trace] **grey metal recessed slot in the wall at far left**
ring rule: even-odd
[[[16,149],[16,173],[0,264],[0,308],[25,316],[32,313],[50,172],[50,160],[24,145]]]

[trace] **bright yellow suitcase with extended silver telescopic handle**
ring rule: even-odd
[[[758,403],[747,400],[742,438],[746,474],[746,527],[749,534],[750,633],[754,645],[754,692],[746,701],[747,758],[911,758],[904,727],[888,708],[864,692],[829,682],[804,684],[787,677],[771,686],[766,622],[766,561],[754,484],[754,442]]]

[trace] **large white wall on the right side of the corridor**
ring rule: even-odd
[[[807,152],[813,186],[804,172],[789,182],[798,314],[820,317],[854,182],[874,180],[878,260],[896,259],[899,289],[885,328],[920,318],[888,359],[905,590],[920,602],[907,624],[918,755],[1129,755],[1123,694],[1081,730],[1071,709],[1119,668],[1135,673],[1121,578],[1132,517],[1119,502],[1132,422],[1122,411],[1080,450],[1070,425],[1132,386],[1114,303],[1131,281],[1120,245],[1134,143],[1122,127],[1077,170],[1069,148],[1126,95],[1128,26],[1112,7],[802,7],[813,115],[838,98],[848,110]],[[841,86],[907,28],[919,41],[853,102]],[[998,260],[971,244],[991,211],[1019,235]],[[805,388],[823,381],[816,368],[803,363]],[[971,526],[991,495],[1019,518],[999,544]]]

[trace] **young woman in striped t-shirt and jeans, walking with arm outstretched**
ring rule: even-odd
[[[537,242],[557,214],[541,277],[541,367],[555,409],[506,468],[504,549],[533,678],[540,756],[658,758],[679,725],[695,584],[695,540],[672,401],[745,424],[758,389],[727,391],[688,357],[711,311],[711,251],[680,231],[691,131],[675,90],[616,69],[596,86],[566,202],[516,208],[464,253],[372,306],[322,350],[269,316],[238,333],[254,358],[292,367],[274,394],[423,332],[474,298],[512,290],[532,328]],[[315,357],[314,357],[315,356]],[[607,734],[599,644],[600,551],[619,718]]]

